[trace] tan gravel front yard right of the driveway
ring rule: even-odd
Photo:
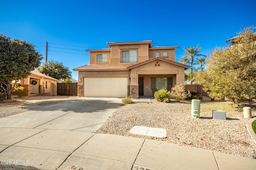
[[[228,154],[256,158],[256,144],[247,131],[242,107],[228,102],[205,101],[200,118],[191,117],[191,102],[124,104],[96,133],[125,135],[188,145]],[[227,120],[212,119],[212,110],[226,111]],[[252,116],[256,116],[255,107]],[[164,128],[167,138],[146,137],[129,133],[133,126]]]

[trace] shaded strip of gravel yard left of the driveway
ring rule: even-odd
[[[39,109],[41,107],[58,104],[65,100],[73,100],[77,96],[50,96],[50,94],[38,94],[22,98],[12,98],[11,102],[0,102],[0,118],[16,115],[25,111]]]

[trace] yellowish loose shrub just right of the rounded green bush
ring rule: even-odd
[[[185,98],[189,98],[191,96],[190,91],[185,91],[185,87],[183,84],[176,84],[171,90],[172,97],[177,101],[180,102]]]

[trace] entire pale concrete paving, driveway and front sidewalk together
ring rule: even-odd
[[[0,119],[0,169],[7,163],[42,170],[256,169],[252,158],[92,133],[120,105],[120,99],[79,98]]]

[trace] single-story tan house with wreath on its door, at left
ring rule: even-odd
[[[40,72],[31,71],[30,75],[27,78],[22,78],[17,82],[16,86],[22,86],[28,89],[28,93],[30,94],[38,94],[38,93],[50,93],[51,82],[59,82],[60,80],[56,78],[52,78]],[[14,84],[15,81],[12,82]]]

